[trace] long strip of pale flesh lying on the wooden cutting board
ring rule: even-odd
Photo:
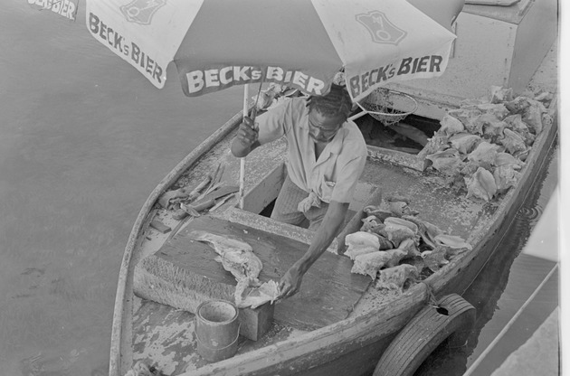
[[[277,282],[269,280],[261,283],[258,279],[261,268],[261,259],[255,256],[252,246],[242,240],[231,239],[202,230],[193,230],[188,237],[210,244],[218,254],[215,261],[235,277],[235,305],[239,308],[257,308],[267,302],[271,304],[279,296]]]

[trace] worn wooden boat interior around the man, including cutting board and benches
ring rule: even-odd
[[[235,122],[237,124],[239,118]],[[368,115],[360,117],[356,123],[361,129],[368,130],[369,156],[343,230],[328,248],[329,252],[325,252],[309,269],[301,291],[271,305],[268,315],[273,320],[265,333],[240,335],[238,355],[334,324],[350,315],[366,313],[393,294],[377,290],[370,277],[351,273],[353,262],[342,255],[344,237],[360,229],[366,206],[379,205],[388,195],[405,197],[419,218],[467,241],[474,241],[470,237],[478,233],[481,223],[485,223],[495,211],[496,204],[467,199],[465,194],[458,194],[450,187],[444,176],[426,171],[422,158],[417,155],[423,147],[421,144],[413,139],[404,139]],[[407,123],[427,137],[439,127],[437,119],[412,117]],[[240,161],[229,151],[234,132],[199,158],[169,189],[195,186],[219,165],[223,166],[222,181],[237,184]],[[384,138],[383,146],[386,147],[377,146],[375,142],[375,138],[382,135],[391,135],[391,138]],[[388,139],[390,141],[386,142]],[[242,209],[234,198],[215,211],[176,221],[171,211],[155,205],[133,256],[136,265],[133,362],[156,364],[166,374],[178,374],[207,364],[195,351],[193,312],[197,302],[205,299],[231,299],[235,279],[213,260],[214,249],[188,237],[192,230],[231,234],[252,245],[263,262],[261,282],[279,281],[280,276],[307,249],[312,231],[269,218],[272,203],[286,174],[285,150],[285,141],[279,140],[248,155]],[[160,221],[171,230],[157,230],[150,225],[151,220]],[[198,262],[197,254],[201,255]],[[222,288],[223,294],[209,291],[208,287],[198,291],[200,288],[190,286],[192,280],[197,280],[196,275],[214,281],[218,287],[223,285],[227,288]],[[196,285],[200,283],[196,282]],[[253,311],[261,309],[267,310],[260,307]]]

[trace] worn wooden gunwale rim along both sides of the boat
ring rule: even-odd
[[[240,368],[245,363],[244,361],[247,361],[248,363],[256,362],[259,365],[258,370],[249,370],[249,372],[252,372],[252,374],[257,374],[256,372],[267,370],[268,367],[275,367],[275,370],[277,371],[277,369],[280,368],[280,366],[281,367],[283,366],[284,361],[287,361],[287,363],[290,364],[296,362],[296,360],[301,360],[303,356],[306,356],[308,350],[311,350],[310,353],[318,353],[318,350],[315,351],[315,343],[317,341],[320,341],[325,345],[328,344],[328,347],[326,347],[326,349],[324,350],[319,348],[320,351],[330,353],[331,342],[327,341],[329,337],[330,338],[331,336],[337,337],[339,333],[350,331],[351,329],[357,328],[359,325],[362,326],[361,331],[356,331],[353,334],[347,334],[346,338],[344,338],[344,341],[342,342],[333,341],[334,343],[336,343],[336,346],[346,346],[347,343],[353,343],[353,344],[359,343],[360,345],[366,345],[366,343],[374,343],[375,341],[378,341],[379,336],[383,337],[387,334],[392,334],[395,331],[401,329],[401,326],[398,326],[393,330],[393,332],[391,333],[386,332],[382,334],[382,333],[377,333],[378,332],[377,330],[372,331],[370,328],[374,327],[375,329],[382,329],[384,323],[390,322],[389,319],[386,320],[386,315],[378,315],[378,311],[383,311],[386,308],[387,311],[392,311],[393,314],[392,317],[397,317],[398,315],[403,315],[403,314],[413,315],[415,312],[413,312],[412,307],[417,305],[416,311],[418,311],[423,305],[423,302],[426,301],[428,298],[428,292],[427,292],[428,288],[426,284],[430,285],[430,287],[432,288],[432,292],[434,294],[438,295],[439,293],[441,293],[442,290],[444,290],[445,287],[450,283],[451,279],[453,277],[460,276],[461,270],[464,267],[465,268],[468,267],[471,261],[473,261],[474,258],[477,258],[477,256],[482,252],[482,249],[485,249],[489,239],[493,238],[495,236],[495,232],[499,229],[499,225],[501,222],[499,220],[505,215],[506,211],[515,210],[516,212],[516,210],[518,210],[518,208],[515,209],[513,207],[513,202],[517,202],[518,195],[523,191],[523,189],[527,190],[528,180],[531,178],[532,175],[534,175],[531,174],[531,172],[534,171],[535,168],[538,168],[539,165],[543,163],[543,159],[545,157],[544,155],[546,155],[547,151],[543,150],[544,147],[546,146],[546,143],[549,140],[552,142],[554,140],[554,137],[556,136],[556,127],[557,127],[556,99],[553,99],[551,106],[548,109],[551,115],[554,113],[552,117],[553,122],[549,124],[547,127],[545,127],[543,132],[540,134],[540,137],[537,140],[538,142],[536,142],[535,145],[532,147],[527,157],[527,161],[529,163],[525,164],[525,166],[523,167],[522,171],[523,174],[521,179],[519,180],[517,186],[514,189],[509,190],[508,193],[506,193],[505,197],[503,197],[501,202],[499,202],[499,207],[497,208],[496,211],[494,211],[491,214],[492,221],[488,221],[488,225],[478,229],[477,232],[479,237],[476,235],[473,238],[470,238],[470,240],[476,240],[476,245],[474,249],[468,252],[464,252],[461,255],[458,255],[456,258],[451,259],[451,262],[448,265],[446,265],[444,268],[434,273],[432,276],[428,277],[424,281],[425,283],[420,283],[411,287],[408,291],[404,293],[405,299],[403,299],[403,295],[387,298],[378,305],[378,309],[370,310],[365,314],[349,316],[346,319],[341,320],[335,324],[330,324],[323,328],[319,328],[317,330],[308,332],[307,334],[300,334],[299,336],[286,339],[278,343],[271,343],[270,345],[264,346],[261,349],[254,350],[249,353],[236,355],[233,358],[230,358],[222,362],[216,362],[205,365],[204,367],[201,367],[198,370],[184,372],[181,374],[181,376],[207,375],[207,374],[212,374],[213,372],[224,372],[223,374],[227,375],[232,375],[232,374],[237,375],[239,374],[239,372],[244,371],[242,368]],[[218,129],[218,132],[215,132],[212,136],[208,137],[204,141],[204,143],[198,146],[193,152],[190,153],[190,155],[187,155],[182,162],[177,164],[176,168],[170,174],[166,175],[166,177],[161,181],[161,183],[157,185],[157,188],[155,188],[153,193],[151,193],[151,195],[147,199],[147,202],[145,202],[145,205],[139,212],[138,219],[135,222],[135,225],[133,226],[131,236],[129,237],[128,240],[128,246],[123,258],[123,263],[121,264],[119,282],[123,281],[122,284],[123,287],[121,288],[121,285],[119,284],[116,296],[116,309],[113,318],[113,333],[111,337],[111,355],[113,355],[113,349],[115,349],[114,351],[116,357],[120,358],[121,356],[120,347],[118,348],[117,346],[120,345],[122,341],[132,340],[130,336],[127,336],[128,338],[124,338],[125,336],[123,335],[121,328],[117,327],[120,326],[120,324],[122,324],[126,318],[125,306],[122,304],[123,303],[122,300],[119,302],[119,297],[124,299],[127,290],[129,290],[128,292],[130,294],[133,293],[132,280],[130,281],[130,286],[128,286],[129,281],[127,279],[129,275],[132,275],[132,272],[130,272],[129,269],[134,268],[134,265],[129,265],[129,264],[140,231],[142,230],[144,222],[147,219],[147,215],[154,206],[158,196],[161,193],[163,193],[168,186],[170,186],[172,183],[175,183],[176,179],[178,179],[180,175],[184,174],[184,172],[192,164],[194,164],[202,155],[204,155],[208,150],[210,150],[212,146],[214,146],[217,142],[221,141],[225,136],[227,136],[231,132],[231,130],[233,130],[233,127],[236,127],[236,122],[239,121],[238,117],[239,118],[242,117],[242,112],[238,113],[228,122],[226,122],[222,128]],[[537,161],[541,162],[538,166],[536,165]],[[494,250],[489,251],[489,258],[492,256],[493,253]],[[487,260],[489,258],[484,260],[480,268],[482,268],[487,263]],[[477,274],[479,274],[479,272],[480,270],[477,271]],[[401,305],[401,308],[399,310],[390,309],[391,307],[394,307],[394,303],[399,303]],[[118,313],[118,307],[120,311],[119,313]],[[132,311],[127,310],[126,314],[132,315]],[[363,334],[365,335],[363,336]],[[309,347],[311,349],[309,349]],[[304,350],[299,351],[299,349],[301,350],[304,349]],[[285,352],[291,353],[290,355],[294,355],[293,353],[298,353],[298,355],[296,357],[287,357],[284,356]],[[315,357],[315,359],[317,359],[317,361],[314,364],[314,366],[318,366],[319,364],[322,363],[318,362],[319,357]],[[271,360],[271,365],[269,365],[270,360]],[[117,371],[118,370],[117,365],[118,364],[122,365],[121,362],[124,361],[121,361],[121,359],[113,359],[113,357],[111,356],[111,364],[114,364],[114,368],[109,366],[110,370],[109,375],[111,376],[122,375],[122,373],[119,373]],[[132,364],[128,364],[125,365],[126,368],[120,367],[119,370],[128,370],[130,369],[131,366]]]

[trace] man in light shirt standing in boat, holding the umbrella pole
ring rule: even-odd
[[[325,96],[293,98],[260,115],[244,118],[232,142],[237,157],[287,138],[287,177],[271,218],[315,230],[307,252],[280,280],[280,298],[299,291],[302,278],[328,248],[345,220],[366,163],[366,142],[347,120],[352,101],[333,85]]]

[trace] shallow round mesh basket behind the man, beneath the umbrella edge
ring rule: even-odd
[[[366,114],[384,123],[385,126],[404,120],[418,108],[418,102],[413,97],[391,89],[375,89],[362,103],[356,102],[356,104]]]

